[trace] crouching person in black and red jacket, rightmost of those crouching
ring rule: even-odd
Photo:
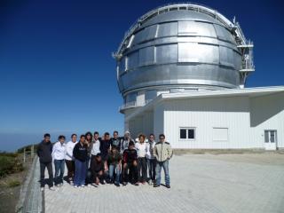
[[[128,170],[130,170],[129,175]],[[127,180],[131,184],[139,185],[137,151],[135,150],[133,141],[130,141],[129,148],[123,152],[122,185],[126,185]]]

